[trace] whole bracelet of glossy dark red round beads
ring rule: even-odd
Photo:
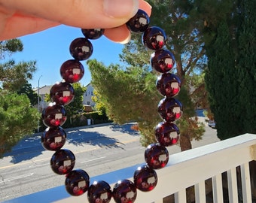
[[[145,150],[145,165],[134,172],[131,180],[120,180],[111,190],[104,180],[95,181],[90,185],[90,177],[86,171],[73,170],[75,155],[70,150],[62,149],[66,142],[66,132],[62,125],[66,122],[64,105],[69,105],[75,97],[72,83],[76,83],[84,75],[81,60],[89,59],[93,53],[90,40],[100,38],[104,29],[81,29],[85,38],[76,38],[69,50],[74,59],[64,62],[60,68],[62,81],[50,89],[51,103],[42,111],[42,120],[47,129],[41,135],[41,144],[46,150],[56,151],[50,159],[50,166],[56,174],[66,174],[65,186],[70,195],[82,195],[87,192],[89,202],[108,203],[111,198],[117,203],[136,201],[136,190],[148,192],[157,186],[155,170],[163,168],[169,161],[166,147],[176,144],[179,129],[173,123],[182,114],[182,105],[174,98],[181,88],[181,80],[170,73],[175,64],[173,54],[165,48],[166,34],[157,26],[149,26],[149,17],[145,11],[139,10],[135,17],[126,23],[130,32],[142,33],[145,47],[154,50],[151,55],[151,66],[160,73],[157,77],[157,90],[164,98],[159,102],[158,112],[163,121],[155,128],[156,143],[150,144]]]

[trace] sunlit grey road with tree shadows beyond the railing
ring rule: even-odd
[[[90,177],[145,162],[145,147],[139,143],[139,134],[123,126],[89,126],[67,132],[63,148],[75,154],[75,168],[81,168]],[[206,126],[202,141],[193,141],[193,147],[218,141],[215,129]],[[168,147],[169,153],[178,153],[178,146]],[[0,160],[0,201],[63,185],[65,176],[54,174],[50,158],[54,152],[41,147],[40,135],[20,141],[11,153]]]

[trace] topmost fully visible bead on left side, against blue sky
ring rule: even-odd
[[[76,38],[70,44],[69,52],[74,59],[86,60],[93,54],[93,44],[87,38]]]

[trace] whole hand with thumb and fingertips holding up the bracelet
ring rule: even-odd
[[[64,24],[102,28],[110,40],[127,42],[124,24],[139,8],[151,15],[144,0],[0,0],[0,41]]]

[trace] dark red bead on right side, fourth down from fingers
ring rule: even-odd
[[[161,74],[157,77],[156,86],[161,95],[174,97],[181,89],[181,80],[175,74]]]

